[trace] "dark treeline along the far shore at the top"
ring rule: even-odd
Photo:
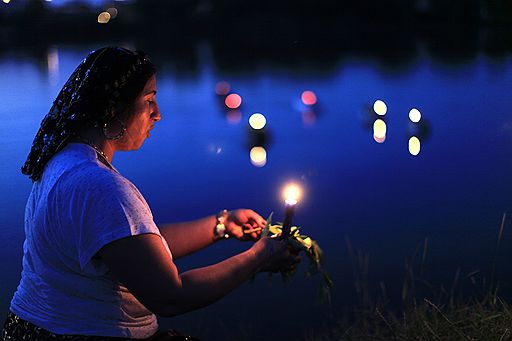
[[[44,59],[52,45],[133,42],[164,67],[194,72],[197,46],[206,42],[219,69],[265,64],[318,72],[347,56],[400,69],[420,46],[444,63],[481,52],[499,58],[512,49],[508,0],[140,0],[116,7],[118,17],[100,25],[97,10],[78,5],[1,6],[0,55],[26,50]]]

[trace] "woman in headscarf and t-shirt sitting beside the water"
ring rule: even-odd
[[[252,210],[155,225],[112,159],[149,137],[160,120],[156,92],[147,56],[116,47],[90,53],[62,88],[22,167],[34,184],[3,340],[160,340],[173,333],[158,333],[154,314],[203,307],[259,271],[299,261],[284,241],[245,231],[265,224]],[[256,242],[218,264],[178,272],[173,259],[226,237]]]

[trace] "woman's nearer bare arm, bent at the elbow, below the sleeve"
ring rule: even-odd
[[[261,270],[298,262],[286,242],[262,238],[249,250],[220,263],[178,273],[156,234],[116,240],[99,251],[111,274],[149,310],[173,316],[206,306]]]

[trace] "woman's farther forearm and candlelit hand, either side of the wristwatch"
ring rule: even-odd
[[[219,240],[214,233],[216,225],[217,217],[211,215],[191,222],[161,225],[159,228],[173,257],[178,259]],[[265,220],[253,210],[239,209],[227,212],[224,225],[226,233],[231,237],[239,240],[257,240],[261,230],[252,233],[244,233],[244,230],[262,229]]]

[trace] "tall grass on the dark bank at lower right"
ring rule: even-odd
[[[347,239],[358,303],[350,316],[339,320],[323,335],[324,340],[512,340],[512,307],[499,295],[495,279],[498,250],[506,224],[503,214],[498,231],[490,278],[479,271],[455,271],[450,285],[437,287],[425,279],[429,239],[405,260],[401,302],[391,305],[384,283],[371,295],[368,282],[369,255],[356,250]],[[459,289],[469,282],[472,290]],[[372,288],[374,289],[374,288]]]

